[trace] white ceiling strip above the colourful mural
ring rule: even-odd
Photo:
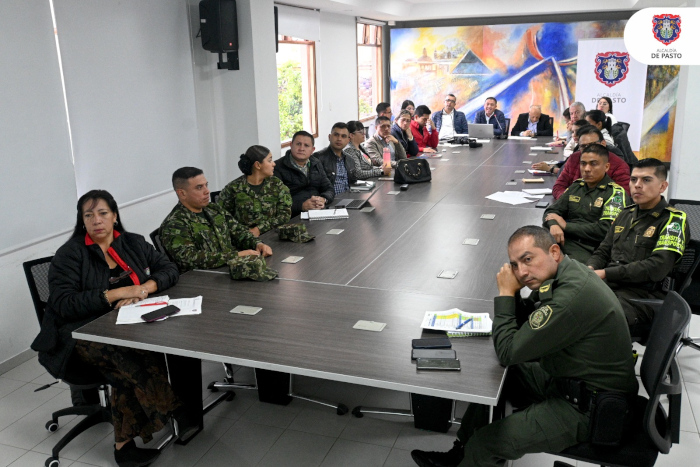
[[[287,5],[383,21],[521,16],[684,6],[685,0],[280,0]]]

